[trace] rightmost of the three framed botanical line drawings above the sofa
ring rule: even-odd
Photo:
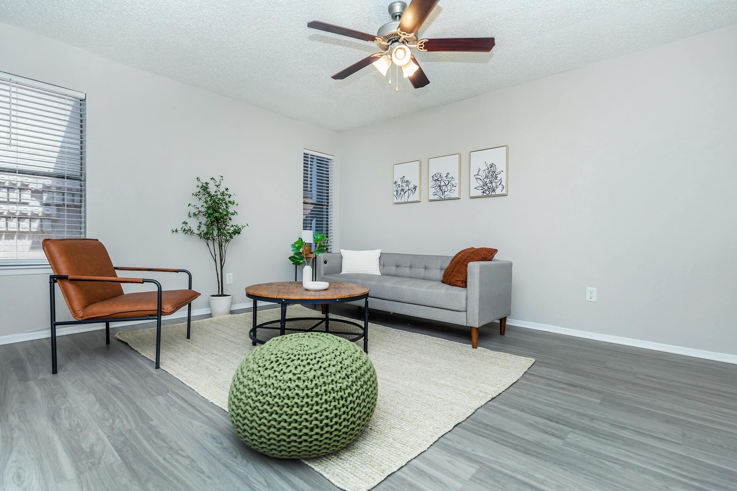
[[[507,194],[507,146],[475,150],[469,155],[470,197]]]

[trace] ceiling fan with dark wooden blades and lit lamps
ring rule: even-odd
[[[382,75],[391,67],[391,63],[402,67],[404,78],[408,78],[414,88],[425,87],[430,83],[425,72],[412,54],[412,49],[421,52],[453,51],[453,52],[490,52],[494,47],[494,38],[436,38],[419,39],[418,31],[427,16],[433,11],[439,0],[412,0],[409,7],[403,1],[389,4],[391,22],[379,28],[377,35],[360,32],[347,27],[335,26],[321,21],[311,21],[307,27],[332,32],[349,38],[356,38],[375,43],[380,52],[370,54],[348,68],[344,68],[332,78],[341,80],[368,65],[373,64]],[[389,83],[391,84],[391,76]],[[399,90],[399,88],[397,88]]]

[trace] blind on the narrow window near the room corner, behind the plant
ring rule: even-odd
[[[302,229],[332,239],[332,155],[304,150],[302,166]]]

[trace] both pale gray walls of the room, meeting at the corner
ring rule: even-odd
[[[170,233],[195,177],[224,174],[250,225],[226,268],[243,303],[250,283],[293,278],[309,148],[340,160],[341,247],[496,247],[514,261],[514,319],[732,354],[736,51],[726,27],[336,134],[0,24],[1,71],[88,94],[88,236],[116,264],[192,270],[195,308],[212,261]],[[469,199],[469,150],[498,145],[509,196]],[[427,158],[453,152],[462,198],[427,202]],[[417,158],[423,201],[393,205],[392,164]],[[0,276],[0,336],[47,329],[47,305],[45,275]]]

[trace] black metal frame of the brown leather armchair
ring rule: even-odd
[[[118,266],[114,266],[114,269],[118,269]],[[155,271],[162,272],[156,268],[125,268],[126,271]],[[163,271],[168,272],[168,271]],[[173,271],[172,271],[173,272]],[[186,269],[177,269],[178,273],[186,273],[189,276],[189,289],[192,289],[192,273]],[[58,280],[68,281],[99,281],[102,283],[111,283],[108,280],[69,280],[68,275],[49,275],[49,301],[51,309],[51,372],[55,374],[56,370],[56,326],[57,325],[80,325],[80,324],[100,324],[105,322],[105,345],[110,344],[110,323],[111,322],[125,322],[133,320],[155,320],[156,321],[156,368],[161,367],[161,283],[150,278],[143,278],[143,283],[153,283],[156,285],[156,315],[144,316],[144,317],[116,317],[114,319],[84,319],[84,320],[63,320],[57,321],[56,319],[56,289],[55,284]],[[115,282],[112,282],[115,283]],[[124,282],[120,282],[124,283]],[[192,328],[192,302],[186,306],[186,339],[189,339],[189,334]],[[174,314],[174,312],[172,312]],[[171,314],[170,314],[171,315]]]

